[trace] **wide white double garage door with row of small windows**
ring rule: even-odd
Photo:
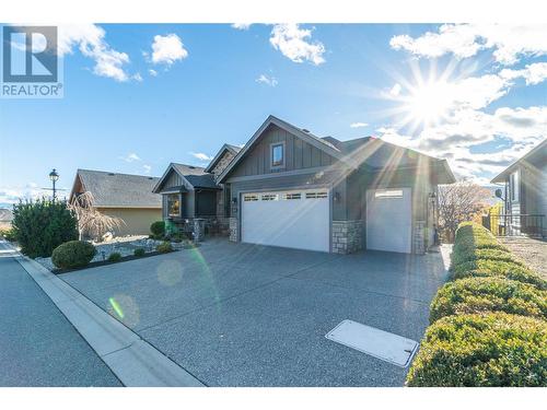
[[[242,242],[329,250],[326,189],[244,194]]]

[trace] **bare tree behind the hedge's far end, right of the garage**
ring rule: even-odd
[[[480,185],[462,180],[439,186],[439,231],[449,243],[454,242],[457,225],[473,221],[486,207],[491,192]]]

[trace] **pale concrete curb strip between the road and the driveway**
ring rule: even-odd
[[[15,259],[125,386],[205,386],[42,265]]]

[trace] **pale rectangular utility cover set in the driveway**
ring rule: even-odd
[[[349,319],[342,320],[325,337],[400,367],[408,366],[418,349],[414,340]]]

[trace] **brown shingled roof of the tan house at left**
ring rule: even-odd
[[[161,196],[152,188],[160,178],[146,175],[78,169],[70,198],[80,181],[83,191],[90,191],[98,208],[162,208]]]

